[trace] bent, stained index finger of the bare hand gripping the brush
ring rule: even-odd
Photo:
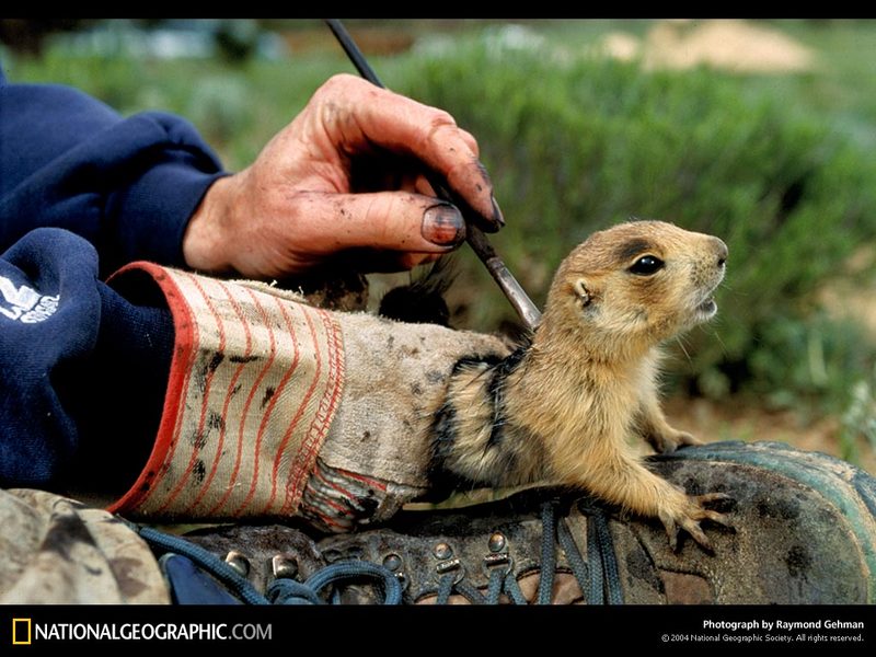
[[[353,152],[377,145],[413,155],[440,174],[487,224],[504,224],[477,142],[450,114],[353,76],[335,76],[323,90],[337,93],[331,101],[334,125],[325,126],[338,130],[337,143]],[[339,100],[345,112],[338,112]]]

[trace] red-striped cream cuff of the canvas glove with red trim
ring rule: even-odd
[[[291,516],[344,387],[341,326],[321,309],[150,263],[176,338],[154,448],[110,510],[150,518]]]

